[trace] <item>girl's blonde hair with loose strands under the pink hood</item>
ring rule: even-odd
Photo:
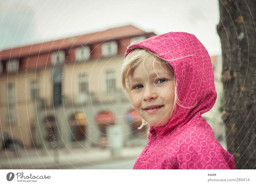
[[[154,68],[154,64],[155,61],[156,62],[165,62],[168,64],[168,66],[171,68],[171,70],[174,73],[174,70],[172,68],[172,66],[163,58],[161,58],[159,55],[157,55],[156,53],[153,53],[147,49],[144,48],[135,48],[133,51],[131,51],[126,58],[123,61],[122,64],[122,68],[121,68],[121,73],[122,73],[122,90],[124,91],[126,97],[129,99],[129,101],[131,102],[131,89],[130,89],[130,85],[128,84],[129,80],[128,78],[132,76],[132,73],[134,71],[134,69],[139,66],[140,62],[144,62],[148,56],[153,56],[154,57],[154,61],[153,61],[153,68]],[[188,55],[190,56],[190,55]],[[187,57],[187,56],[185,56]],[[155,60],[158,59],[159,61]],[[181,57],[184,58],[184,57]],[[172,59],[172,60],[177,60],[177,59]],[[168,61],[172,61],[172,60],[168,60]],[[154,68],[155,70],[155,68]],[[157,74],[157,73],[156,73]],[[158,74],[157,74],[158,76]],[[196,106],[193,105],[191,107],[184,107],[181,103],[180,100],[177,96],[177,87],[176,87],[176,76],[174,73],[174,104],[173,104],[173,109],[171,112],[171,116],[173,113],[174,108],[176,107],[176,104],[178,104],[179,106],[183,107],[183,108],[193,108]],[[138,129],[141,129],[144,125],[147,125],[148,123],[146,122],[146,120],[142,119],[142,124],[140,125],[140,127],[138,127]]]

